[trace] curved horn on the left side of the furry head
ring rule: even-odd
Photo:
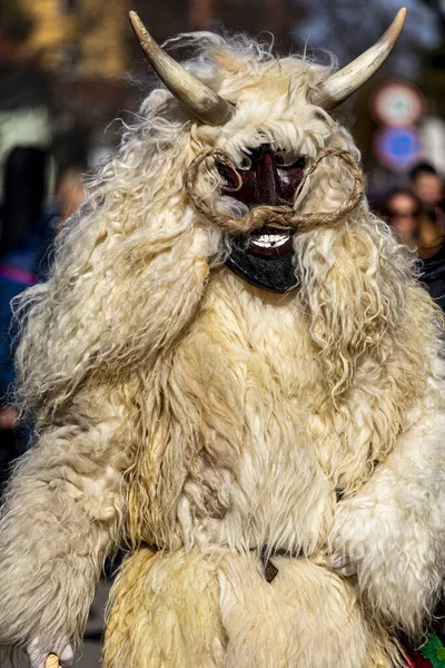
[[[148,32],[136,11],[130,11],[129,17],[144,53],[170,92],[198,120],[214,126],[225,124],[233,115],[234,106],[166,53]]]

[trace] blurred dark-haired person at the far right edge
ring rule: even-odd
[[[417,165],[409,175],[411,188],[421,203],[418,220],[418,256],[426,259],[436,255],[443,243],[444,226],[436,208],[444,196],[442,177],[427,163]]]

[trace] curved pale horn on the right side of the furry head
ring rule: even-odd
[[[406,9],[402,8],[387,31],[370,49],[320,85],[314,102],[324,109],[334,109],[358,90],[385,62],[396,46],[405,19]]]

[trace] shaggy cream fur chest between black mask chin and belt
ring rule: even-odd
[[[358,489],[398,429],[375,401],[384,380],[372,362],[336,406],[295,296],[226,273],[155,381],[158,419],[136,493],[151,490],[139,533],[161,544],[312,554],[330,530],[336,487]]]

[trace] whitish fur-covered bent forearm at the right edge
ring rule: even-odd
[[[376,616],[408,633],[433,612],[445,572],[444,440],[445,410],[424,412],[360,492],[338,503],[330,537]]]

